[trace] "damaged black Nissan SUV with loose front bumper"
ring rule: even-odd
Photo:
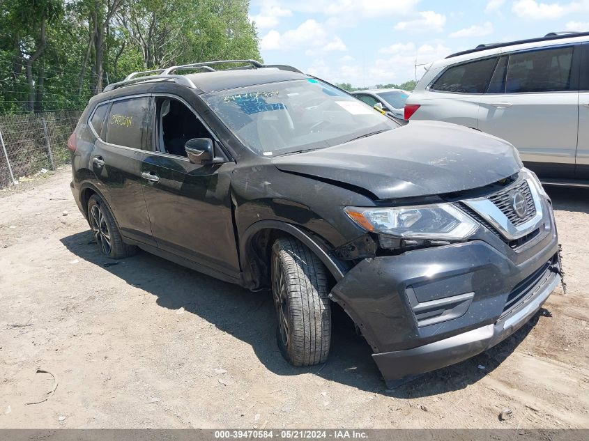
[[[289,66],[132,74],[91,99],[68,147],[105,256],[140,247],[270,288],[296,366],[326,361],[330,302],[392,383],[494,346],[560,281],[551,201],[510,144],[402,125]]]

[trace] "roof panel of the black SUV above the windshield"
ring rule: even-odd
[[[218,70],[217,72],[194,73],[186,75],[186,77],[204,93],[309,78],[305,74],[277,68]]]

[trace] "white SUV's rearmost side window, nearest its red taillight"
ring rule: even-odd
[[[433,91],[484,93],[496,58],[473,61],[448,68],[430,87]]]

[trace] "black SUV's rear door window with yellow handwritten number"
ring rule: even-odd
[[[113,102],[107,120],[107,142],[146,149],[149,146],[149,113],[147,97]]]

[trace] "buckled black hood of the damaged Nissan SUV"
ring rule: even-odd
[[[339,146],[273,159],[282,171],[395,199],[484,187],[521,169],[515,148],[460,125],[413,121]]]

